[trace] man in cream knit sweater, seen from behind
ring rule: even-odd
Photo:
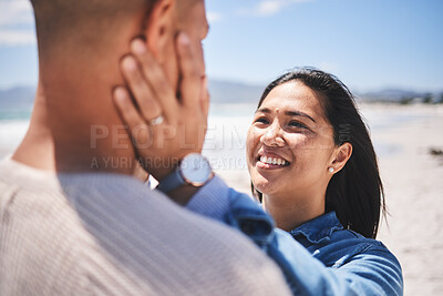
[[[178,90],[175,35],[206,35],[203,0],[32,4],[39,86],[28,134],[0,163],[0,295],[288,294],[247,238],[131,176],[135,153],[110,92],[124,84],[119,60],[144,35]]]

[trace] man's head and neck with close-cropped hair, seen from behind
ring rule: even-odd
[[[131,174],[131,165],[122,166],[135,162],[135,153],[112,101],[112,89],[124,84],[120,61],[130,52],[131,41],[144,37],[178,90],[175,38],[184,31],[195,45],[206,37],[204,0],[31,2],[40,78],[32,132],[27,136],[32,140],[25,141],[29,144],[21,149],[22,155],[29,155],[27,146],[32,150],[42,145],[41,131],[45,130],[48,144],[42,151],[54,151],[45,159],[54,159],[58,171],[93,169]],[[92,145],[94,126],[100,126],[105,136]],[[97,159],[96,167],[91,166],[92,159]]]

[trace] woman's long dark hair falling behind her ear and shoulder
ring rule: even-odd
[[[375,238],[381,211],[385,214],[384,191],[375,152],[354,96],[334,75],[301,68],[272,81],[265,89],[258,108],[274,88],[290,81],[299,81],[319,95],[324,116],[333,127],[336,145],[352,144],[351,157],[328,184],[326,212],[336,211],[344,227]],[[254,185],[253,194],[261,202],[262,194]]]

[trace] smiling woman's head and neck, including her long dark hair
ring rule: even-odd
[[[254,194],[286,231],[328,212],[374,238],[383,185],[351,92],[315,69],[289,72],[265,90],[247,137]]]

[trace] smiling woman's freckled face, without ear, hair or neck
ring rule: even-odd
[[[254,186],[276,198],[310,198],[318,191],[324,196],[334,147],[317,94],[298,81],[278,85],[256,111],[247,135]]]

